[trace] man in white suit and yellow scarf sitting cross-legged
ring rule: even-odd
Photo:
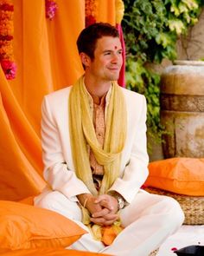
[[[87,233],[73,249],[149,255],[182,225],[183,213],[172,198],[140,189],[148,175],[145,98],[116,82],[122,48],[114,27],[95,23],[82,30],[77,45],[85,74],[42,102],[44,178],[51,189],[35,205],[86,230],[82,210],[102,227],[119,216],[124,230],[111,246]]]

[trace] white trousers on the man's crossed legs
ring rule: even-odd
[[[35,197],[35,206],[61,213],[88,231],[81,222],[78,204],[58,191],[48,191]],[[111,246],[104,246],[86,233],[69,248],[117,256],[148,256],[182,226],[184,214],[176,200],[140,191],[131,205],[121,210],[120,219],[124,230]]]

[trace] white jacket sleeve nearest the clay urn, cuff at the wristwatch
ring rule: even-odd
[[[149,156],[147,154],[146,143],[146,100],[141,97],[141,113],[137,123],[129,131],[128,144],[131,144],[129,161],[124,167],[122,177],[119,177],[110,188],[110,191],[117,191],[128,203],[134,199],[135,195],[143,185],[148,176]],[[131,113],[131,118],[135,118]]]

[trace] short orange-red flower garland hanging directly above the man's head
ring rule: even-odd
[[[86,0],[85,1],[85,16],[86,16],[86,27],[96,23],[98,3],[96,0]]]

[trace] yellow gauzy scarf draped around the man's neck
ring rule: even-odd
[[[105,143],[101,148],[92,122],[92,109],[83,76],[73,85],[69,95],[69,129],[73,164],[77,177],[93,195],[106,194],[119,176],[121,153],[126,139],[127,114],[124,95],[117,82],[112,82],[112,95],[107,108]],[[99,192],[92,180],[87,144],[100,165],[104,176]],[[83,209],[83,213],[86,209]],[[85,214],[84,214],[85,215]],[[86,222],[86,220],[84,221]]]

